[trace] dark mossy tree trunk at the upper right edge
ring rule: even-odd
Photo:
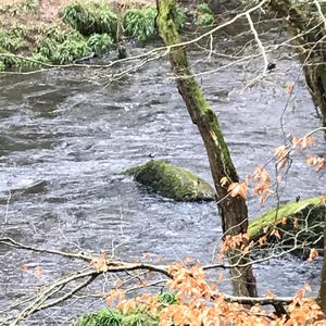
[[[271,0],[268,3],[279,17],[286,20],[290,36],[297,37],[293,42],[298,46],[305,80],[314,104],[319,108],[323,127],[326,127],[326,47],[323,39],[326,23],[313,1]],[[325,17],[326,4],[319,3]]]

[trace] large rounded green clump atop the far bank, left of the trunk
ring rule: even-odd
[[[63,21],[80,34],[109,34],[115,38],[117,15],[110,5],[100,2],[83,2],[66,5],[62,11]]]

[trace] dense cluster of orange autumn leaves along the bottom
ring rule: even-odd
[[[174,263],[170,266],[173,278],[167,283],[168,290],[176,298],[175,302],[164,304],[158,296],[142,294],[128,300],[124,291],[112,291],[106,298],[109,306],[123,313],[130,310],[143,310],[159,317],[160,326],[223,326],[223,325],[258,325],[258,326],[296,326],[323,325],[318,322],[322,315],[319,306],[305,298],[309,286],[300,289],[289,305],[288,315],[281,317],[266,312],[260,304],[251,308],[233,303],[218,291],[216,283],[211,285],[199,264],[186,266]],[[274,293],[266,292],[273,299]],[[324,324],[325,325],[325,324]]]

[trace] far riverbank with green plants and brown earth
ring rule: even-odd
[[[191,9],[189,9],[191,8]],[[179,30],[190,20],[214,24],[208,4],[178,5]],[[141,45],[158,38],[152,0],[71,1],[8,0],[0,2],[0,71],[79,63],[109,51],[127,55],[125,40]]]

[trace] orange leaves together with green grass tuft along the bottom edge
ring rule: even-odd
[[[264,311],[260,305],[244,309],[231,303],[206,280],[199,264],[187,267],[185,263],[174,263],[168,272],[173,276],[167,281],[171,292],[156,296],[141,294],[126,299],[125,292],[112,291],[106,302],[115,309],[104,309],[85,315],[78,326],[184,326],[184,325],[318,325],[322,315],[319,306],[305,298],[309,286],[298,290],[289,304],[288,318],[278,317]],[[268,297],[274,294],[268,291]],[[162,301],[166,302],[162,305]]]

